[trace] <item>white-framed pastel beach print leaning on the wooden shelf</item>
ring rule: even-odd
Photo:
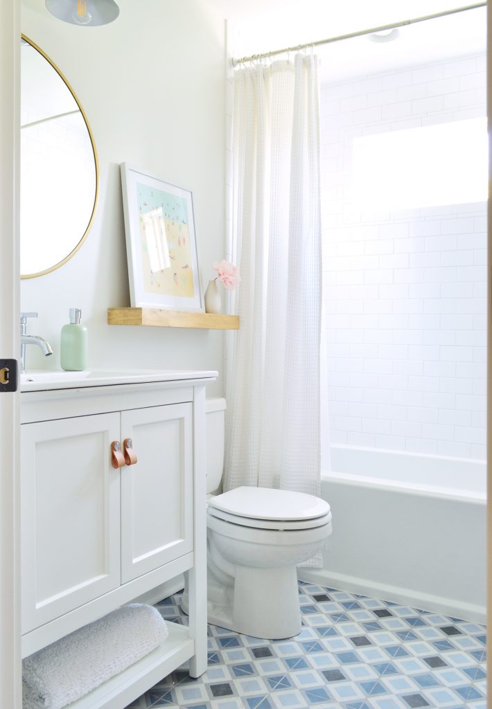
[[[121,185],[132,308],[203,311],[192,193],[126,162]]]

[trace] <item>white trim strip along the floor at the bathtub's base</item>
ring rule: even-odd
[[[373,596],[385,601],[393,601],[412,608],[430,610],[432,613],[452,615],[453,618],[472,620],[475,623],[486,623],[486,607],[474,603],[458,601],[455,598],[432,596],[430,593],[420,593],[409,588],[378,584],[370,579],[359,579],[356,576],[334,574],[328,569],[310,569],[306,566],[297,568],[297,577],[300,581],[309,584],[337,588],[338,591],[360,593],[362,596]]]

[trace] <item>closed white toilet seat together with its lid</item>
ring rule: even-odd
[[[239,487],[209,500],[209,515],[226,522],[265,530],[307,530],[327,525],[329,504],[306,493]]]

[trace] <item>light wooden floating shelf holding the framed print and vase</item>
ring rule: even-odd
[[[239,330],[239,316],[182,313],[158,308],[108,308],[108,325],[146,325],[151,328]]]

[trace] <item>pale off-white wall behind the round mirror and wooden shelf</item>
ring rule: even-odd
[[[225,255],[224,23],[201,0],[119,0],[101,28],[62,23],[25,0],[22,31],[60,67],[77,93],[99,157],[97,216],[74,258],[25,280],[21,306],[38,311],[28,332],[55,357],[28,348],[28,368],[59,367],[60,328],[82,308],[89,367],[222,369],[220,331],[106,325],[108,307],[129,306],[119,164],[129,162],[192,190],[202,283]],[[222,375],[209,394],[222,393]]]

